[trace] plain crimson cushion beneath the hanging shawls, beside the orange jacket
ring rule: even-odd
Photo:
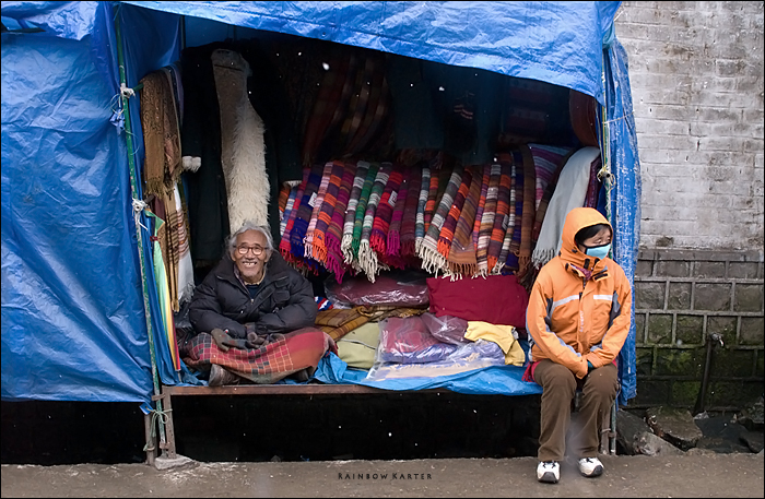
[[[429,277],[427,292],[431,312],[436,317],[455,316],[467,321],[514,325],[526,329],[529,295],[515,275],[486,278]]]

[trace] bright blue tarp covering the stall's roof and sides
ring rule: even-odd
[[[639,165],[620,2],[2,2],[40,33],[2,34],[2,399],[140,401],[172,368],[151,265],[144,293],[115,19],[128,86],[178,59],[181,16],[305,36],[574,88],[605,106],[615,258],[633,278]],[[115,12],[115,7],[118,7]],[[603,75],[605,78],[603,78]],[[136,170],[138,99],[130,105]],[[136,180],[136,179],[133,179]],[[140,181],[137,182],[140,186]],[[142,230],[148,249],[150,233]],[[144,253],[148,251],[144,251]],[[151,253],[151,252],[148,252]],[[146,310],[150,320],[146,320]],[[164,342],[164,343],[163,343]],[[622,393],[635,395],[634,326]]]

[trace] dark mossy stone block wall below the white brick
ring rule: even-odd
[[[707,409],[741,408],[763,394],[763,253],[642,250],[635,271],[637,396],[628,406],[693,408],[706,338]]]

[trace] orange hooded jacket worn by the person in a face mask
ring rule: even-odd
[[[591,207],[566,215],[561,251],[540,270],[526,310],[531,360],[562,364],[577,378],[587,376],[588,360],[593,367],[613,361],[629,332],[632,287],[624,270],[574,242],[577,231],[597,224],[611,226]]]

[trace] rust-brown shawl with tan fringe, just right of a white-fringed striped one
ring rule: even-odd
[[[462,210],[455,227],[455,237],[446,260],[449,265],[449,273],[466,276],[473,276],[478,272],[475,260],[475,245],[473,243],[473,227],[475,225],[475,209],[481,198],[481,183],[483,181],[483,170],[481,166],[468,170],[470,175],[470,189],[462,204]],[[460,186],[460,190],[462,187]],[[459,197],[459,191],[457,192]],[[444,230],[442,229],[442,233]]]

